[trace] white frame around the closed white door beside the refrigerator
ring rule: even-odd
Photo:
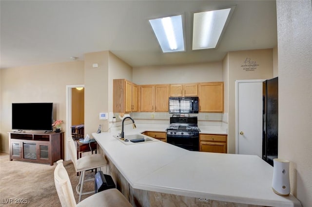
[[[235,80],[235,154],[238,154],[238,84],[263,82],[266,79]]]

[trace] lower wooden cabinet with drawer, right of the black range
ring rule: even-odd
[[[227,135],[199,134],[199,151],[227,153]]]

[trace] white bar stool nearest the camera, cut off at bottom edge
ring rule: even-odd
[[[54,183],[62,207],[132,207],[117,189],[103,190],[76,204],[72,184],[63,166],[63,160],[59,160],[57,163],[54,170]]]

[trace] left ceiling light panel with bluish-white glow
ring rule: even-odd
[[[149,20],[162,52],[184,51],[182,16]]]

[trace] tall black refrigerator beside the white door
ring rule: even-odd
[[[278,150],[278,77],[263,82],[262,159],[273,166]]]

